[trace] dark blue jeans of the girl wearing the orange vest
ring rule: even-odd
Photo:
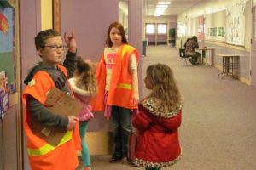
[[[113,156],[126,157],[128,138],[132,131],[131,109],[112,105],[111,120],[113,127]]]

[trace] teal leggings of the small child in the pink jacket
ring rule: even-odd
[[[79,122],[79,133],[82,143],[82,158],[85,167],[90,167],[90,151],[88,149],[87,144],[85,143],[85,133],[87,131],[88,121],[86,122]]]

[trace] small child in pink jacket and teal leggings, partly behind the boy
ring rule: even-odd
[[[76,70],[74,71],[73,78],[69,79],[69,82],[73,88],[75,99],[83,104],[83,108],[79,113],[79,133],[82,142],[84,170],[90,170],[90,151],[84,137],[88,122],[93,117],[90,99],[96,95],[96,78],[93,65],[78,57]]]

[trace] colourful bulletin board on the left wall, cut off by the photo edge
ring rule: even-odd
[[[14,1],[0,1],[0,113],[8,110],[8,96],[16,92]]]

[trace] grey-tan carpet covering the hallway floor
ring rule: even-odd
[[[231,77],[222,79],[212,66],[183,65],[178,50],[168,46],[147,47],[147,56],[142,59],[143,78],[147,66],[158,62],[172,67],[183,94],[179,129],[183,157],[163,169],[256,169],[256,88]],[[144,85],[142,94],[148,94]],[[91,156],[92,169],[144,169],[130,167],[125,161],[109,164],[109,158]]]

